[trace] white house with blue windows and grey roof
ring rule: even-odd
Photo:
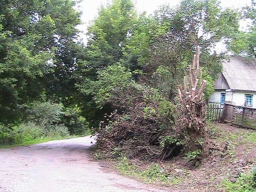
[[[224,61],[214,89],[208,102],[256,108],[256,60],[233,56]]]

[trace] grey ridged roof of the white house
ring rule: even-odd
[[[223,76],[232,90],[256,91],[256,60],[233,56],[223,63]]]

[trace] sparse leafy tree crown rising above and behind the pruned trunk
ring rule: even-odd
[[[166,92],[169,98],[174,96],[176,81],[181,80],[183,72],[192,61],[196,46],[200,46],[200,65],[204,68],[204,78],[209,84],[207,95],[213,91],[214,80],[221,71],[224,53],[214,52],[217,42],[224,42],[229,48],[230,43],[238,34],[240,13],[229,8],[222,9],[220,2],[214,0],[183,0],[176,8],[162,6],[155,15],[148,19],[148,26],[156,29],[146,33],[140,30],[129,40],[126,52],[129,56],[137,54],[136,62],[143,70],[143,82]],[[141,43],[140,38],[144,41]],[[146,46],[145,46],[146,45]],[[146,47],[146,48],[145,48]],[[146,51],[145,51],[146,50]],[[164,81],[164,82],[163,82]]]

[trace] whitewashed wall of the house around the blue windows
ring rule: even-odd
[[[252,97],[252,107],[256,108],[256,92],[242,92],[242,91],[226,91],[226,90],[216,90],[213,92],[208,102],[210,103],[220,103],[220,94],[226,93],[226,102],[232,102],[238,106],[244,106],[245,102],[245,95],[250,94],[253,95]]]

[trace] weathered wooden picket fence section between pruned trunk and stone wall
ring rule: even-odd
[[[207,119],[212,122],[220,122],[222,116],[223,105],[220,103],[209,103],[207,105]]]

